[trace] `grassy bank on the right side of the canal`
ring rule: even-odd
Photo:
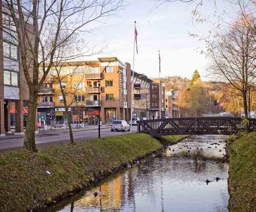
[[[227,142],[230,212],[256,212],[256,132]]]

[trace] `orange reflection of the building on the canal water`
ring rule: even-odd
[[[119,210],[121,209],[121,185],[121,176],[118,176],[109,182],[105,182],[91,192],[87,192],[83,195],[81,199],[75,202],[75,207],[96,207],[102,210]],[[101,192],[99,192],[100,188]],[[93,192],[99,192],[99,195],[94,197]]]

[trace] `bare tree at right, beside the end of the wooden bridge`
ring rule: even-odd
[[[255,18],[251,19],[255,24]],[[207,41],[208,57],[212,59],[209,70],[219,80],[226,81],[241,93],[244,116],[248,119],[247,96],[250,87],[256,84],[256,42],[251,27],[242,16],[232,23],[223,34]],[[247,130],[248,130],[247,124]]]

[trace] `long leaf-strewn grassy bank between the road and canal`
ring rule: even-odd
[[[160,148],[149,135],[125,134],[49,146],[38,153],[0,154],[0,211],[23,212],[51,203]]]

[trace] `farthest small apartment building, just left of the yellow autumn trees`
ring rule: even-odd
[[[178,94],[178,90],[171,90],[165,92],[166,109],[168,109],[169,116],[171,118],[180,118],[180,108],[177,107]]]

